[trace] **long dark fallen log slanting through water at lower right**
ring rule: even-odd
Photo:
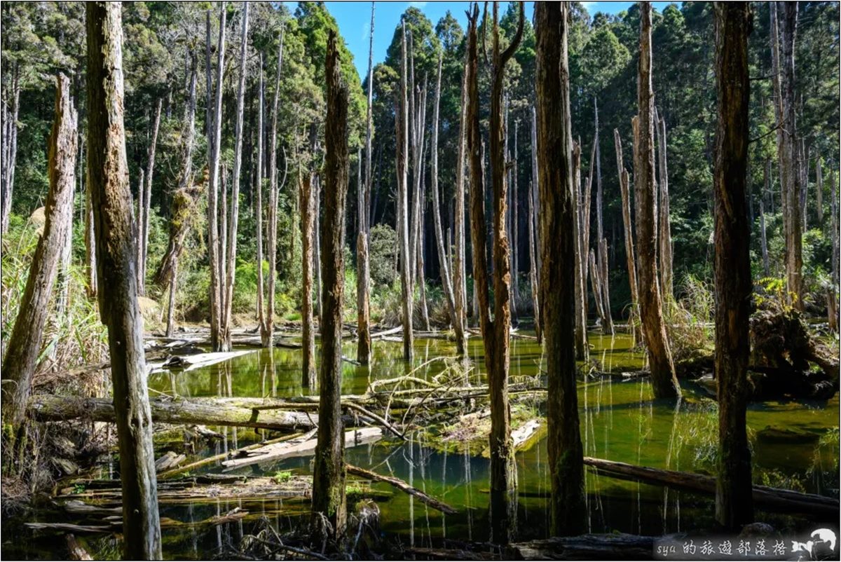
[[[716,493],[716,479],[713,476],[696,475],[678,470],[653,469],[648,466],[636,466],[592,457],[584,457],[584,464],[596,469],[598,474],[611,478],[667,485],[678,490],[703,494]],[[754,485],[754,505],[773,509],[776,512],[803,513],[817,517],[838,517],[839,509],[837,498],[760,485]]]

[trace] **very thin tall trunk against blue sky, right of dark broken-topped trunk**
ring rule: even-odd
[[[357,235],[357,361],[367,365],[371,361],[371,271],[368,259],[368,238],[371,227],[371,135],[373,132],[373,13],[368,30],[368,115],[365,132],[365,183],[359,194],[359,234]],[[359,161],[362,167],[362,160]]]

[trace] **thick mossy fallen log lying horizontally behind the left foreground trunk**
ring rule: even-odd
[[[224,400],[154,398],[149,402],[152,421],[156,423],[256,427],[280,432],[311,429],[318,425],[316,414],[281,410],[255,411],[253,408],[228,405]],[[105,398],[34,395],[29,398],[28,412],[29,416],[42,422],[61,422],[74,418],[114,422],[115,419],[114,403]]]

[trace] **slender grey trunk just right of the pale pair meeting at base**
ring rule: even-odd
[[[272,347],[274,344],[274,294],[275,280],[278,278],[278,194],[286,183],[288,160],[283,152],[283,181],[278,185],[278,99],[280,98],[280,75],[283,71],[283,38],[286,35],[286,25],[280,29],[278,41],[278,68],[274,75],[274,98],[272,100],[272,136],[268,145],[268,175],[269,194],[267,209],[267,258],[268,258],[268,287],[266,312],[263,314],[263,329],[260,332],[262,347]]]

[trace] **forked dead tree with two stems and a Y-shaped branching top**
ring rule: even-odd
[[[484,181],[482,146],[479,132],[479,70],[476,29],[479,6],[474,5],[468,17],[468,151],[470,158],[470,209],[473,232],[473,279],[479,295],[479,324],[484,342],[485,365],[488,369],[490,396],[490,537],[495,543],[507,543],[516,529],[516,466],[510,435],[508,404],[508,368],[510,338],[510,270],[508,234],[505,231],[507,189],[502,124],[502,86],[505,64],[520,45],[523,29],[523,5],[518,4],[520,17],[517,31],[505,50],[500,49],[498,6],[493,12],[493,46],[490,61],[490,175],[493,189],[493,261],[494,318],[490,317],[489,273],[487,258],[481,248],[486,245],[484,231]],[[487,19],[487,13],[484,15]],[[485,21],[487,24],[487,20]]]

